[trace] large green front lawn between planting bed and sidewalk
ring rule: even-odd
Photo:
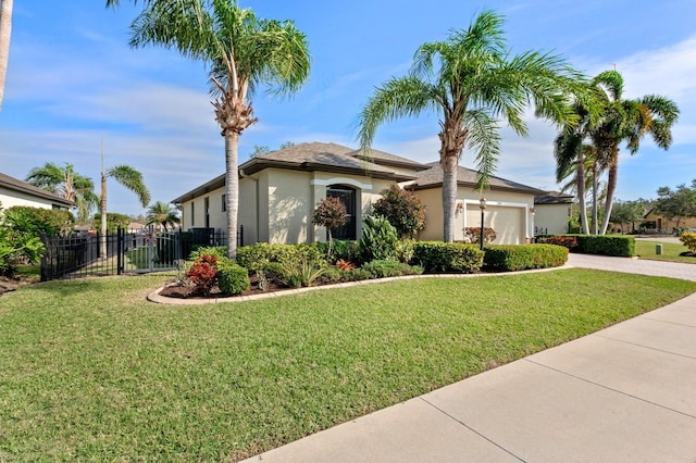
[[[164,280],[0,298],[0,461],[235,461],[696,291],[569,268],[146,302]]]

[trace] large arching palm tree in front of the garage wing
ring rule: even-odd
[[[501,24],[501,15],[484,11],[445,41],[422,45],[409,75],[377,88],[360,114],[361,148],[369,153],[383,122],[438,113],[445,241],[455,237],[457,170],[464,146],[475,151],[476,189],[483,191],[499,154],[499,118],[526,135],[522,117],[534,103],[537,116],[570,122],[574,116],[566,95],[584,91],[581,75],[559,57],[537,51],[510,57]]]

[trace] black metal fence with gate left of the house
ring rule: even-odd
[[[46,253],[41,258],[41,281],[96,275],[121,275],[174,270],[181,259],[201,246],[227,246],[227,234],[214,228],[189,232],[157,232],[153,228],[124,230],[102,236],[76,234],[69,237],[41,235]],[[237,246],[244,242],[244,228]]]

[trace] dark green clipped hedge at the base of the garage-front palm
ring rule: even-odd
[[[425,273],[473,273],[481,270],[484,252],[463,242],[419,241],[411,263]]]

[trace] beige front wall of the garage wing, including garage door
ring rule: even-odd
[[[425,204],[425,229],[419,239],[442,240],[443,234],[443,189],[418,190],[415,193]],[[489,190],[485,192],[486,210],[484,226],[493,228],[496,245],[519,245],[534,236],[534,196],[525,193]],[[455,240],[464,240],[465,227],[481,226],[481,193],[470,188],[459,187],[457,211],[455,213]],[[461,204],[461,209],[459,208]]]

